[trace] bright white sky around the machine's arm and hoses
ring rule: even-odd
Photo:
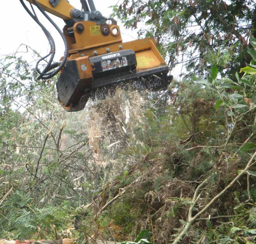
[[[1,39],[0,39],[0,55],[10,54],[16,51],[21,43],[24,43],[31,48],[37,50],[44,55],[48,50],[48,41],[44,36],[41,28],[34,22],[34,20],[27,14],[19,0],[1,0],[0,1],[0,20],[1,20]],[[24,1],[27,2],[27,1]],[[81,9],[80,0],[69,0],[77,9]],[[103,16],[109,17],[112,13],[111,5],[115,5],[118,0],[95,0],[96,9],[99,10]],[[29,4],[28,4],[29,6]],[[29,6],[30,7],[30,6]],[[36,7],[35,7],[36,9]],[[55,61],[58,61],[63,56],[64,46],[61,37],[55,31],[54,27],[49,24],[39,11],[37,11],[40,21],[51,32],[56,44]],[[11,14],[11,15],[10,15]],[[59,28],[62,30],[65,22],[53,15],[50,15]],[[117,20],[118,21],[118,20]],[[126,30],[120,21],[118,25],[122,31],[123,40],[131,41],[137,38],[137,31]],[[24,48],[23,48],[24,50]],[[31,55],[31,54],[30,54]],[[29,59],[28,56],[24,56]]]

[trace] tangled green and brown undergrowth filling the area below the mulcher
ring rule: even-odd
[[[117,91],[72,115],[53,99],[54,84],[34,96],[21,89],[31,105],[5,106],[0,117],[0,237],[128,241],[148,229],[153,243],[174,240],[198,185],[208,177],[193,214],[255,149],[254,75],[217,77],[213,66],[208,81],[174,81],[164,93]],[[197,219],[184,243],[255,235],[255,170]]]

